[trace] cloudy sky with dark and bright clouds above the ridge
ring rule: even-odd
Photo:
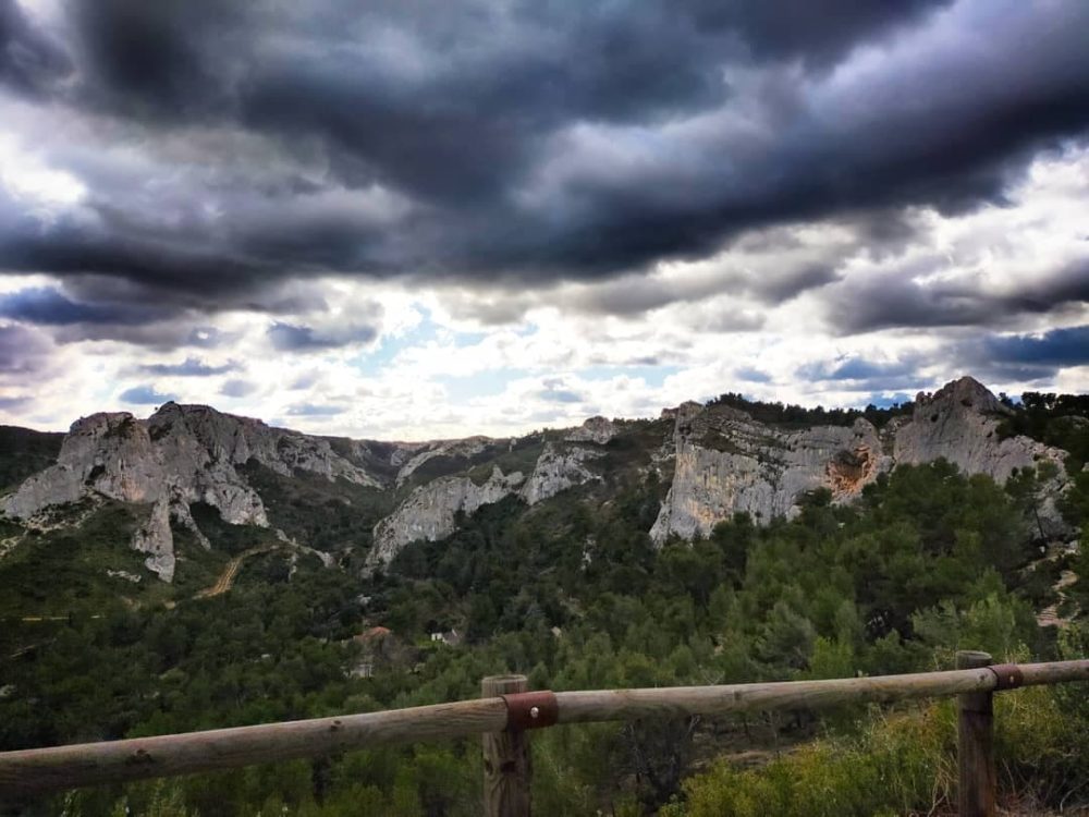
[[[1085,0],[0,0],[0,422],[1089,389]]]

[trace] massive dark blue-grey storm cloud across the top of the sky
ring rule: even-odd
[[[38,37],[5,2],[2,36]],[[870,237],[891,241],[900,208],[1001,200],[1089,123],[1080,0],[65,8],[76,78],[52,103],[91,132],[113,118],[146,163],[66,148],[83,216],[0,229],[0,268],[209,309],[268,309],[272,281],[325,272],[610,276],[797,219],[884,214]],[[888,58],[845,62],[865,45]],[[757,294],[832,280],[818,265]]]

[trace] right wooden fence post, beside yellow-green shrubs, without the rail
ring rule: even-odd
[[[989,667],[987,653],[957,650],[956,668]],[[994,817],[994,709],[990,692],[957,695],[957,814]]]

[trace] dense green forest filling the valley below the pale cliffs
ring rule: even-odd
[[[739,400],[722,402],[756,405],[769,422],[853,419]],[[196,575],[184,593],[166,600],[140,586],[138,603],[125,603],[78,569],[98,564],[129,524],[125,509],[86,511],[84,540],[53,532],[0,561],[0,751],[475,697],[484,675],[501,672],[578,690],[932,670],[957,648],[1089,656],[1087,411],[1085,398],[1026,394],[1003,431],[1070,452],[1062,511],[1080,549],[1039,538],[1041,475],[999,486],[944,461],[882,475],[849,505],[817,491],[791,521],[737,515],[705,539],[654,548],[647,531],[663,486],[625,471],[603,504],[588,501],[597,486],[528,510],[509,498],[372,575],[351,549],[329,569],[207,520],[222,552],[183,545]],[[353,533],[342,509],[330,504],[310,533],[365,549],[369,535]],[[229,593],[184,596],[250,550]],[[1064,584],[1068,572],[1087,578]],[[1063,625],[1040,626],[1052,606]],[[1085,691],[1037,687],[999,706],[1003,797],[1089,803]],[[949,703],[552,729],[534,737],[535,808],[930,813],[947,805],[954,743]],[[479,742],[451,741],[106,786],[30,808],[453,817],[480,813],[480,776]]]

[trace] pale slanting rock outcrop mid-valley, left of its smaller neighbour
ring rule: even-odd
[[[393,513],[375,525],[367,564],[389,563],[412,541],[435,541],[450,536],[455,531],[458,512],[473,513],[480,505],[498,502],[515,493],[525,479],[522,472],[504,476],[493,467],[484,485],[477,485],[467,476],[451,476],[420,486]]]

